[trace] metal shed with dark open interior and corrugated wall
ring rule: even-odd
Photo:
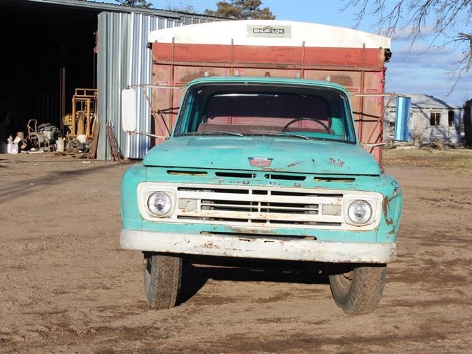
[[[121,133],[119,92],[150,75],[147,31],[212,22],[184,12],[130,8],[83,0],[2,0],[0,140],[26,130],[29,119],[62,128],[77,87],[98,90],[101,133],[97,158],[109,155],[105,126],[115,126],[126,157],[142,158],[149,140]],[[149,131],[151,117],[140,102],[139,126]]]

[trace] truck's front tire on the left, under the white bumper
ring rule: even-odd
[[[182,280],[182,258],[144,252],[144,291],[155,309],[176,305]]]

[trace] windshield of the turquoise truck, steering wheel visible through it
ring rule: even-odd
[[[222,135],[355,142],[346,98],[330,88],[199,85],[188,90],[174,136]]]

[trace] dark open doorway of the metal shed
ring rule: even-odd
[[[40,1],[0,1],[0,140],[29,119],[62,128],[76,88],[96,88],[100,11]],[[64,133],[64,131],[62,131]]]

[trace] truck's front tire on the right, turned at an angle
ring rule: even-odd
[[[332,297],[346,314],[367,314],[376,310],[385,286],[385,264],[353,267],[330,275]]]

